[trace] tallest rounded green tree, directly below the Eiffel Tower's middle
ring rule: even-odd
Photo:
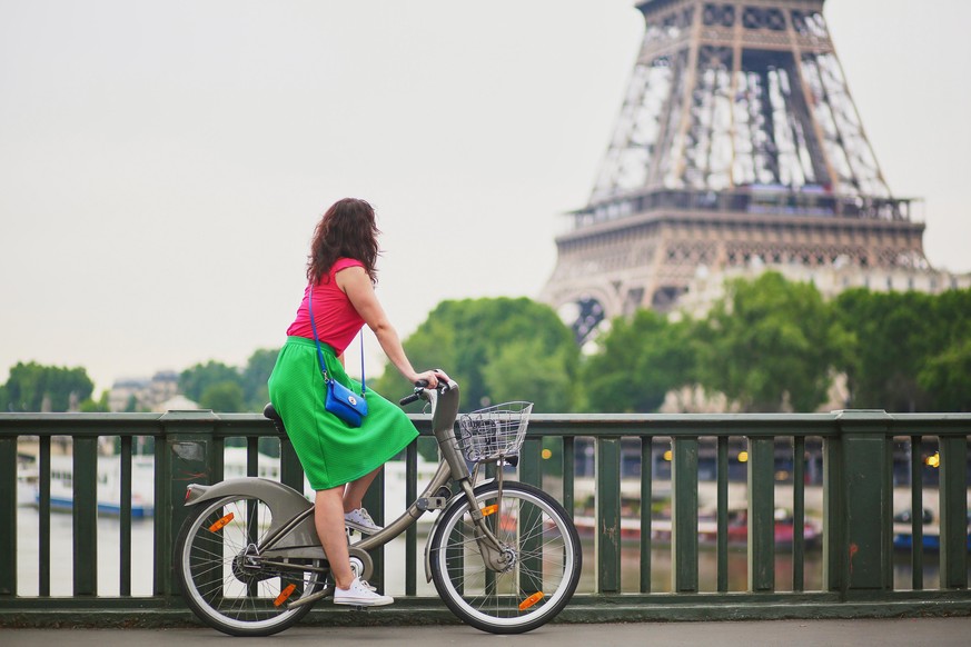
[[[849,344],[813,285],[773,271],[729,281],[701,331],[701,384],[743,411],[815,410]]]

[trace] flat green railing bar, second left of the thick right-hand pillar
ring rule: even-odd
[[[775,439],[749,439],[749,590],[775,589]]]

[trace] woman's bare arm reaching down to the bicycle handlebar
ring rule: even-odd
[[[429,388],[438,386],[439,379],[447,379],[448,376],[440,371],[426,370],[417,372],[408,357],[405,355],[405,349],[402,347],[402,340],[398,338],[398,332],[392,322],[388,320],[385,309],[382,307],[374,292],[374,285],[364,268],[360,266],[351,266],[337,272],[337,287],[339,287],[350,299],[350,303],[357,313],[364,319],[367,327],[371,329],[377,337],[382,350],[388,357],[395,368],[400,371],[405,379],[415,384],[418,380],[426,380]]]

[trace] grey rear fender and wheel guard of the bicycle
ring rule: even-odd
[[[259,498],[266,502],[273,516],[268,535],[274,534],[288,521],[313,507],[313,504],[294,488],[266,478],[232,478],[210,486],[190,484],[186,490],[186,506],[232,496]],[[308,515],[290,529],[286,537],[274,547],[274,550],[294,547],[320,548],[320,539],[314,527],[314,515]]]

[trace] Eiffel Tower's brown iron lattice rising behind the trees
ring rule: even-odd
[[[924,226],[891,195],[824,0],[646,0],[646,30],[586,207],[541,299],[584,341],[673,307],[700,271],[925,271]]]

